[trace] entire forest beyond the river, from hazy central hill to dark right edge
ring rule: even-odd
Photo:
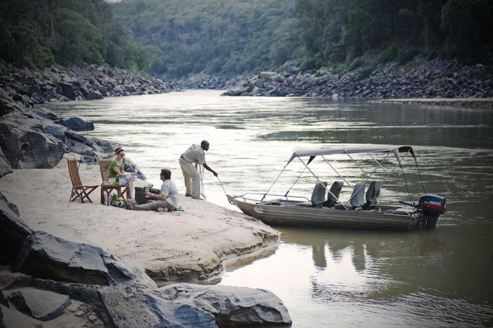
[[[125,0],[152,73],[244,73],[427,58],[488,61],[492,0]]]

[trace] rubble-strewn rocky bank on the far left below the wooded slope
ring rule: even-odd
[[[3,69],[7,68],[7,69]],[[43,72],[16,69],[0,61],[0,71],[12,73],[0,76],[0,116],[13,111],[11,105],[32,107],[53,101],[101,99],[164,93],[174,90],[170,84],[144,75],[105,66],[82,65],[64,68],[54,65]]]

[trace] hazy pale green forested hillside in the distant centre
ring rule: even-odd
[[[151,58],[152,73],[252,72],[302,55],[295,0],[139,0],[113,8]]]

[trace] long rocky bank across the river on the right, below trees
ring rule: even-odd
[[[240,80],[226,96],[486,98],[493,97],[493,72],[482,64],[436,59],[398,66],[396,62],[342,72],[322,68],[300,72],[289,61],[276,72]]]

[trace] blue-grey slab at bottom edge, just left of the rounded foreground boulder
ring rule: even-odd
[[[214,316],[190,303],[171,301],[131,286],[98,287],[114,326],[216,328]]]

